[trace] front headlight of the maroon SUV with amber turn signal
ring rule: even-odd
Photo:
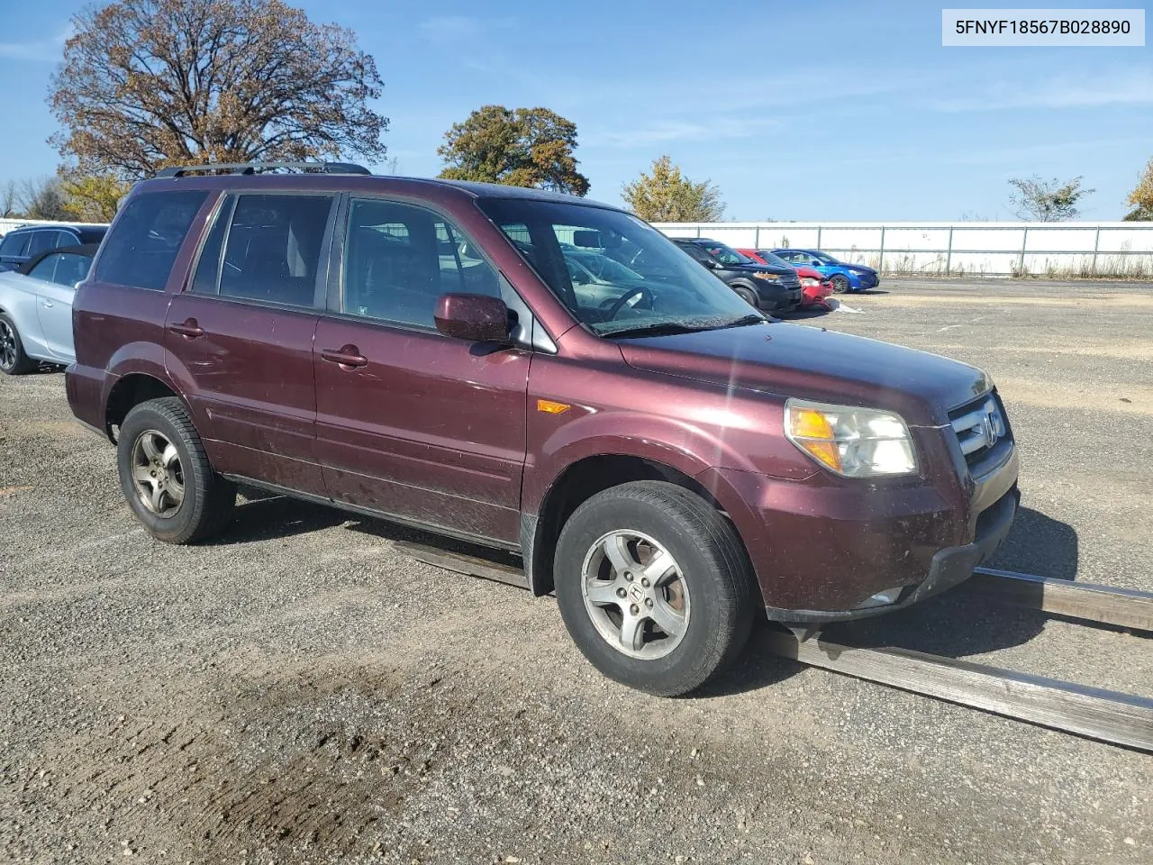
[[[801,451],[843,477],[877,477],[917,471],[909,427],[894,412],[789,399],[785,401],[785,435]]]

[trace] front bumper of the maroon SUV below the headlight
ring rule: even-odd
[[[964,466],[963,458],[958,460]],[[1009,533],[1017,454],[974,479],[942,466],[935,481],[805,481],[736,469],[700,480],[745,543],[768,616],[831,622],[875,616],[965,580]]]

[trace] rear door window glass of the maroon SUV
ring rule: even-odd
[[[332,202],[331,197],[317,195],[239,196],[227,231],[218,234],[219,225],[213,226],[194,291],[211,291],[211,280],[202,277],[202,271],[212,266],[211,260],[223,241],[219,294],[311,307]],[[223,221],[217,219],[218,224]]]

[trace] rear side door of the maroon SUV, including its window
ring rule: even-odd
[[[324,494],[312,450],[312,334],[332,195],[221,197],[194,276],[168,308],[169,373],[217,471]]]

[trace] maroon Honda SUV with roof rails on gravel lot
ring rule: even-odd
[[[1008,533],[980,370],[767,319],[615,208],[366,174],[168,171],[121,208],[68,399],[156,537],[243,482],[512,550],[598,669],[677,694],[758,609],[903,607]]]

